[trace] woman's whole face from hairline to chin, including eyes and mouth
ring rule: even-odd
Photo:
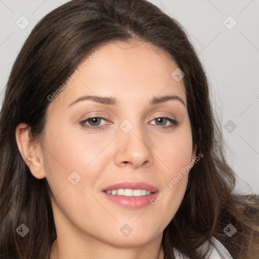
[[[184,83],[144,42],[91,57],[48,107],[42,153],[55,224],[70,237],[145,244],[177,212],[195,158]]]

